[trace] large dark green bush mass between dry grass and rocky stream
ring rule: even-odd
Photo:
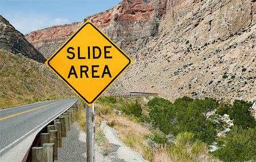
[[[217,108],[216,100],[193,100],[183,97],[172,104],[168,100],[155,98],[148,102],[148,106],[154,127],[158,127],[165,134],[177,135],[188,131],[192,132],[196,139],[208,144],[216,137],[216,126],[203,115]]]

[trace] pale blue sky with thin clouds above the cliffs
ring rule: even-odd
[[[121,0],[0,0],[0,15],[23,35],[53,25],[81,22]]]

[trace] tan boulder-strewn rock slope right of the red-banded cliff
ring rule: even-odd
[[[124,86],[180,96],[256,100],[255,1],[168,1],[159,33]],[[136,84],[135,84],[136,83]],[[136,89],[140,89],[136,87]]]

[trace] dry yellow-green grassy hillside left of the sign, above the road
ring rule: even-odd
[[[0,49],[0,109],[76,97],[43,63]]]

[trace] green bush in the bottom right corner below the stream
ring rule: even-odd
[[[225,146],[214,151],[213,155],[222,161],[256,160],[256,127],[238,129],[234,127],[226,137]]]

